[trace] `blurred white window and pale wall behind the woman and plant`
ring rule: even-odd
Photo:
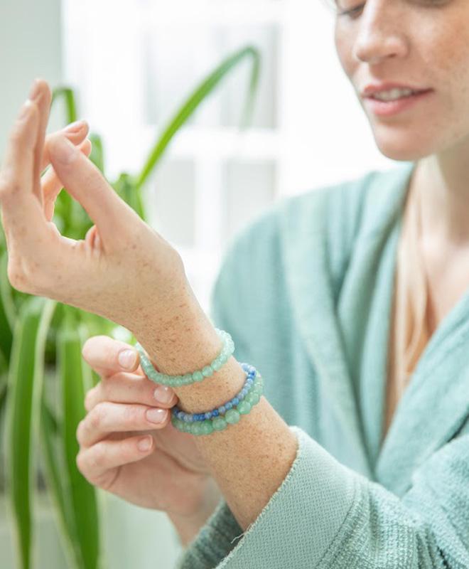
[[[246,61],[176,134],[143,188],[149,223],[181,253],[208,311],[230,240],[272,203],[387,169],[340,68],[321,0],[0,0],[0,156],[34,78],[67,85],[102,137],[105,173],[141,169],[163,126],[230,53],[261,54],[252,123],[238,132]],[[54,110],[49,132],[64,126]],[[0,427],[1,428],[1,427]],[[45,494],[36,496],[37,567],[66,567]],[[109,567],[171,568],[166,515],[106,496]],[[15,550],[0,487],[0,567]]]

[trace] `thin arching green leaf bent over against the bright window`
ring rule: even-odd
[[[257,48],[253,46],[247,46],[246,48],[242,48],[238,50],[234,55],[230,55],[230,57],[226,58],[222,63],[208,75],[205,80],[195,88],[194,92],[188,99],[183,103],[180,107],[180,110],[176,112],[176,115],[170,119],[168,126],[163,130],[163,134],[156,142],[155,146],[151,150],[149,157],[146,159],[143,169],[141,173],[136,179],[136,190],[138,191],[141,186],[144,185],[146,179],[149,177],[151,172],[153,171],[154,167],[158,163],[159,159],[163,152],[165,151],[166,147],[168,146],[171,139],[174,137],[178,129],[188,120],[188,118],[193,115],[193,112],[197,109],[201,102],[203,102],[207,95],[215,89],[215,87],[220,83],[222,78],[225,77],[232,68],[234,68],[238,63],[244,58],[252,58],[253,65],[252,65],[252,73],[251,73],[251,81],[249,83],[249,96],[247,98],[247,105],[244,109],[244,117],[242,120],[241,128],[244,129],[249,124],[252,118],[252,109],[254,103],[254,94],[256,92],[257,83],[259,81],[259,68],[260,68],[260,53]]]

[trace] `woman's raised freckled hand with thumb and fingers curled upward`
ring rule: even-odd
[[[164,321],[191,294],[180,255],[63,132],[49,137],[44,152],[48,84],[36,81],[30,98],[14,124],[0,171],[11,285],[94,312],[133,332],[149,319],[150,305],[152,324],[161,317],[163,330]],[[50,200],[41,188],[46,154],[60,184],[95,222],[84,240],[60,235],[50,220]]]

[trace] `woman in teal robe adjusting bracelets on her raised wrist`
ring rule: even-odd
[[[156,403],[132,346],[86,342],[83,356],[102,381],[87,394],[77,464],[93,484],[168,512],[188,546],[180,569],[469,566],[468,17],[462,0],[338,1],[340,61],[380,151],[403,164],[276,203],[230,246],[211,316],[232,335],[237,361],[264,377],[249,415],[205,437],[168,422],[175,403],[192,412],[236,393],[234,358],[210,385],[158,387]],[[384,98],[397,102],[362,98],[382,83],[426,92],[405,104],[393,90]],[[46,141],[55,174],[41,200],[40,87],[2,170],[12,284],[126,325],[164,373],[210,361],[218,344],[178,257],[107,191],[68,134]],[[82,125],[72,142],[86,153],[85,137]],[[90,265],[80,286],[66,277],[57,286],[57,263],[42,270],[45,256],[34,265],[31,249],[55,247],[74,266],[70,244],[58,247],[53,224],[36,234],[23,221],[40,225],[33,193],[50,221],[46,205],[61,183],[97,221],[84,244],[71,244]],[[129,294],[132,277],[138,295]],[[115,283],[106,295],[103,282]],[[150,311],[138,302],[145,294],[156,297]],[[119,353],[129,348],[124,371]],[[149,408],[159,425],[146,420]],[[139,450],[142,433],[152,437]]]

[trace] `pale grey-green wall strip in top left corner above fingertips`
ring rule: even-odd
[[[0,0],[1,157],[33,79],[60,81],[60,27],[60,0]]]

